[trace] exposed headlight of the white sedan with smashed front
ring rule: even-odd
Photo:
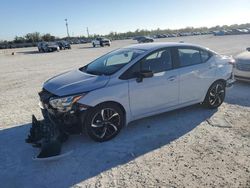
[[[51,98],[49,100],[49,104],[57,109],[59,112],[67,112],[72,109],[74,103],[76,103],[80,98],[82,98],[85,94],[68,96],[62,98]]]

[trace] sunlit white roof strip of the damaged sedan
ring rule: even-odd
[[[165,47],[175,47],[175,46],[190,46],[190,47],[198,47],[202,49],[207,49],[202,46],[191,44],[191,43],[184,43],[184,42],[152,42],[152,43],[144,43],[144,44],[134,44],[127,46],[125,48],[133,48],[145,51],[157,50]],[[208,49],[207,49],[208,50]]]

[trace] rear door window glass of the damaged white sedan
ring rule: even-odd
[[[180,67],[202,63],[200,51],[192,48],[179,48]]]

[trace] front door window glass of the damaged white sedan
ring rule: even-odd
[[[147,56],[141,61],[141,69],[150,70],[153,71],[153,73],[172,69],[170,49],[159,50]]]

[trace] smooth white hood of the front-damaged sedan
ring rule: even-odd
[[[58,95],[74,95],[104,87],[109,81],[109,76],[97,76],[74,70],[59,74],[47,80],[43,88]]]

